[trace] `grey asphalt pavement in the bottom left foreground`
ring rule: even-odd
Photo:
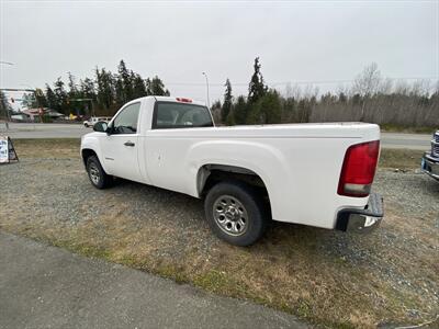
[[[0,232],[0,328],[307,328],[293,316]]]

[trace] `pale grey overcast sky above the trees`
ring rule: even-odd
[[[1,88],[44,87],[71,71],[116,71],[124,59],[172,95],[247,94],[252,61],[284,91],[291,81],[351,80],[375,61],[384,76],[439,76],[438,1],[4,1]],[[320,90],[339,83],[318,83]]]

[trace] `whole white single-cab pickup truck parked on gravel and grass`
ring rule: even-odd
[[[270,220],[364,232],[383,217],[371,193],[374,124],[215,127],[202,103],[146,97],[93,129],[81,157],[95,188],[119,177],[202,197],[212,230],[233,245],[254,243]]]

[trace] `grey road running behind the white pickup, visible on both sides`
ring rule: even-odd
[[[81,124],[10,124],[9,131],[0,123],[0,134],[11,138],[79,138],[92,132]],[[408,148],[427,150],[430,148],[431,135],[382,133],[381,146],[385,148]]]

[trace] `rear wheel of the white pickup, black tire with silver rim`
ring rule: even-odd
[[[234,202],[235,205],[232,204]],[[234,206],[235,211],[232,212]],[[239,207],[244,207],[245,212]],[[229,209],[228,215],[226,209]],[[263,198],[256,190],[241,182],[219,182],[214,185],[204,200],[204,211],[212,231],[218,238],[235,246],[244,247],[255,243],[264,234],[269,222],[269,212]],[[247,215],[246,220],[244,220],[245,217],[240,217],[244,213]],[[246,226],[245,229],[241,228],[240,223]],[[238,232],[239,229],[244,231]]]

